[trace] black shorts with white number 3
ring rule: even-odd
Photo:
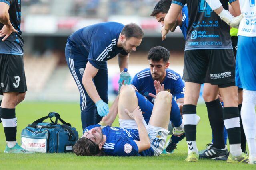
[[[0,94],[26,91],[23,56],[0,54]]]

